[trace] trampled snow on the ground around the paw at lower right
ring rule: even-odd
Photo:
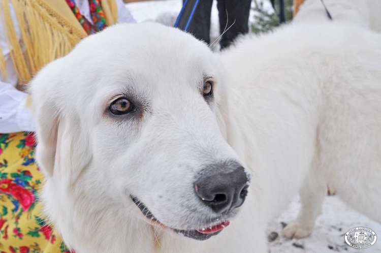
[[[289,207],[268,228],[268,234],[277,232],[278,238],[270,242],[272,253],[376,253],[381,252],[381,225],[348,207],[337,196],[327,196],[323,204],[323,213],[316,220],[315,230],[304,239],[286,239],[281,236],[282,223],[291,222],[300,209],[299,197],[295,197]],[[366,249],[354,249],[344,241],[345,233],[355,227],[367,227],[378,238],[376,243]]]

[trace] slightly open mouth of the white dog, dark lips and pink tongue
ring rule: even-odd
[[[150,221],[153,222],[155,225],[168,228],[167,226],[163,225],[159,220],[153,216],[152,212],[136,197],[130,196],[132,201],[135,203],[137,207],[139,207],[140,211],[143,213],[143,215]],[[177,234],[195,239],[204,241],[212,237],[213,235],[218,235],[219,232],[221,232],[224,228],[229,226],[229,220],[224,220],[223,222],[213,225],[210,227],[195,229],[195,230],[178,230],[173,228],[168,228]]]

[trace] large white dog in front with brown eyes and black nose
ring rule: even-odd
[[[31,94],[45,212],[79,253],[267,252],[267,222],[311,166],[381,221],[370,31],[298,24],[214,54],[175,28],[116,25]]]

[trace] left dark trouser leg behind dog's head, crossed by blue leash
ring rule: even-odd
[[[212,10],[213,0],[199,0],[196,9],[194,6],[197,1],[183,1],[186,5],[180,13],[176,27],[193,34],[197,39],[210,43],[210,12]],[[190,15],[193,18],[189,21]]]

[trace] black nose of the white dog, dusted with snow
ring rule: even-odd
[[[195,182],[197,196],[216,213],[239,207],[245,201],[249,178],[237,163],[212,165],[201,171]]]

